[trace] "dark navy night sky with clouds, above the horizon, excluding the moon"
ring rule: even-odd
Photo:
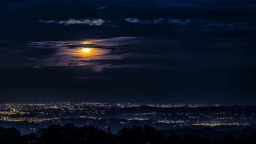
[[[1,0],[0,102],[255,105],[255,14],[255,0]]]

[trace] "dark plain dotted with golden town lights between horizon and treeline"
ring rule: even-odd
[[[61,123],[74,118],[81,124],[144,125],[154,127],[220,126],[254,124],[253,106],[118,103],[1,103],[0,122]],[[83,121],[82,120],[86,120]],[[140,122],[141,121],[141,122]],[[6,123],[7,122],[7,123]],[[99,124],[98,124],[99,125]],[[30,128],[36,130],[36,128]]]

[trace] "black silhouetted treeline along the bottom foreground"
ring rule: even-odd
[[[0,144],[252,144],[256,141],[256,132],[235,139],[230,133],[222,139],[209,140],[192,134],[164,135],[152,126],[124,127],[116,134],[97,126],[76,126],[72,123],[64,125],[51,124],[30,134],[21,134],[18,129],[0,126]]]

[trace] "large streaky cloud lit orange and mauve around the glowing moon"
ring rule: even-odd
[[[136,37],[110,37],[108,39],[84,39],[80,41],[29,42],[24,45],[24,49],[16,48],[16,51],[19,51],[18,54],[22,60],[26,60],[19,62],[26,62],[25,64],[30,62],[29,66],[95,66],[96,64],[79,60],[122,59],[128,56],[132,58],[135,54],[133,54],[134,52],[131,53],[131,50],[139,39]],[[92,50],[88,54],[84,53],[81,50],[84,47],[89,47]],[[71,62],[71,60],[76,60],[76,62]],[[95,71],[100,71],[98,65],[95,69]]]

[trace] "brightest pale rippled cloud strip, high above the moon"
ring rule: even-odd
[[[99,26],[102,25],[105,22],[105,20],[102,19],[68,19],[68,21],[59,21],[59,24],[69,25],[69,24],[87,24],[92,26]]]

